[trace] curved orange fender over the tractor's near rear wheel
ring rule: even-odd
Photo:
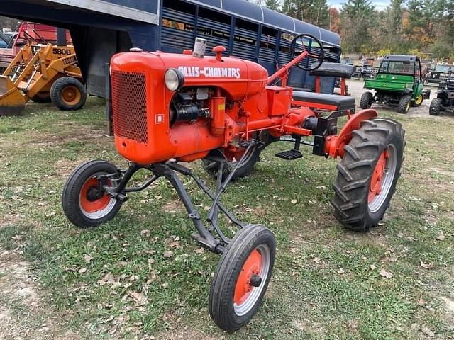
[[[337,157],[343,157],[343,148],[345,145],[348,145],[350,140],[352,139],[352,132],[353,130],[359,130],[361,127],[361,122],[363,120],[372,120],[373,118],[377,118],[378,113],[375,110],[367,108],[362,110],[355,115],[352,115],[351,118],[343,125],[341,132],[339,132],[336,136],[328,136],[326,137],[325,143],[325,153],[326,156],[331,156],[334,159]]]

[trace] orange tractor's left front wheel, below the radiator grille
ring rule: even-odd
[[[78,166],[63,188],[62,206],[66,217],[81,228],[97,227],[114,218],[122,202],[99,191],[95,176],[116,174],[116,166],[101,159],[94,159]],[[117,182],[112,181],[111,186]]]

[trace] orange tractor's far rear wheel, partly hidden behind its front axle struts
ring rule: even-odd
[[[236,150],[227,150],[224,152],[224,154],[226,154],[228,162],[223,168],[223,179],[226,179],[227,176],[233,171],[233,169],[235,169],[241,157],[243,157],[244,152],[244,147],[238,147],[238,149]],[[251,147],[249,149],[248,154],[245,155],[243,162],[240,163],[240,166],[238,166],[238,169],[233,175],[232,181],[240,179],[244,176],[248,176],[248,174],[253,171],[255,163],[260,160],[260,152],[261,149],[259,149],[258,147]],[[221,166],[221,162],[211,161],[210,159],[202,159],[201,161],[201,166],[204,168],[204,170],[210,176],[216,177],[218,174],[218,169]]]

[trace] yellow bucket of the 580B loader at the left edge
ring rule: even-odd
[[[0,76],[0,115],[19,115],[26,107],[26,100],[11,79]]]

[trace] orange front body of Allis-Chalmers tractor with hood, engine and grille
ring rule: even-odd
[[[123,157],[138,164],[189,162],[238,139],[249,111],[255,119],[268,117],[266,69],[222,57],[224,50],[215,47],[216,57],[138,49],[114,55],[114,134]]]

